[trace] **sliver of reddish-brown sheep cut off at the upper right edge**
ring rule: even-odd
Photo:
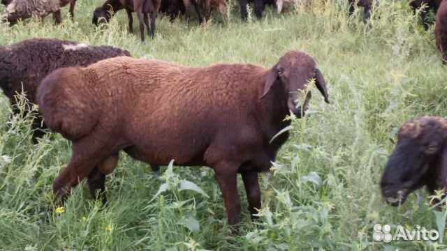
[[[442,1],[436,14],[436,45],[442,53],[442,62],[447,63],[447,0]]]

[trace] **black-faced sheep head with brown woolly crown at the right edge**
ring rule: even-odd
[[[432,190],[446,187],[447,121],[423,116],[404,123],[397,132],[397,146],[381,178],[381,191],[391,206],[427,185]]]

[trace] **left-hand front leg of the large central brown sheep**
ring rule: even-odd
[[[237,195],[237,166],[222,162],[214,165],[214,172],[216,173],[217,183],[221,188],[228,224],[236,225],[239,223],[240,217],[240,201],[239,195]]]

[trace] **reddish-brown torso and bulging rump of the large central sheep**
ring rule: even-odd
[[[278,121],[284,119],[285,112],[284,116],[277,115],[282,113],[276,109],[288,111],[286,102],[265,105],[268,112],[261,109],[265,100],[259,97],[267,74],[268,70],[251,65],[189,68],[117,57],[79,71],[70,68],[50,74],[44,81],[52,84],[39,88],[38,104],[48,128],[78,138],[87,129],[94,130],[91,128],[94,121],[101,128],[102,137],[108,140],[120,135],[126,144],[145,149],[144,159],[153,165],[167,165],[173,158],[180,165],[205,165],[205,162],[210,165],[223,157],[205,153],[210,144],[223,144],[221,152],[228,158],[232,155],[249,158],[244,154],[258,153],[251,147],[261,147],[264,142],[271,148],[268,155],[274,158],[280,145],[269,145],[268,141],[290,122],[271,125],[271,116],[281,116]],[[59,94],[78,89],[80,82],[68,81],[73,78],[96,80],[82,84],[78,94]],[[82,102],[86,102],[86,107],[100,107],[101,111],[75,105]],[[98,113],[101,117],[96,120]],[[78,128],[87,122],[89,125]],[[99,136],[91,132],[87,137]],[[247,146],[243,152],[241,145]]]

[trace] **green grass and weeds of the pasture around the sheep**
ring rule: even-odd
[[[349,18],[344,0],[284,15],[267,8],[262,20],[240,20],[233,2],[228,20],[214,16],[198,26],[159,18],[154,40],[140,42],[118,13],[105,29],[91,25],[101,0],[80,0],[75,22],[24,22],[0,26],[0,45],[28,38],[62,38],[116,45],[145,59],[186,66],[254,63],[273,66],[289,50],[312,55],[323,73],[331,104],[314,93],[310,116],[293,121],[291,137],[270,174],[261,175],[261,220],[251,222],[242,180],[239,234],[230,234],[212,169],[148,165],[125,154],[106,183],[110,205],[89,198],[78,185],[64,210],[47,211],[52,182],[66,166],[70,144],[60,135],[30,140],[29,118],[9,121],[0,96],[0,250],[442,250],[441,242],[375,243],[372,228],[416,225],[444,236],[444,213],[434,213],[429,195],[410,195],[404,206],[383,202],[381,172],[394,133],[421,115],[446,116],[447,71],[434,45],[434,29],[423,31],[405,0],[381,1],[370,25],[361,11]],[[3,6],[0,7],[3,10]],[[136,20],[136,18],[135,18]],[[169,115],[169,114],[168,114]],[[181,190],[187,180],[205,195]],[[159,195],[160,185],[169,190]],[[197,190],[197,189],[196,189]],[[438,225],[437,225],[438,223]],[[438,227],[439,226],[439,227]]]

